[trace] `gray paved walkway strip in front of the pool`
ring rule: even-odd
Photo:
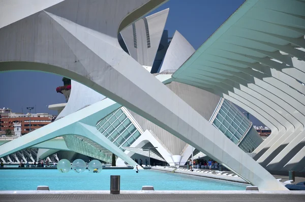
[[[305,201],[304,194],[5,194],[0,201]]]

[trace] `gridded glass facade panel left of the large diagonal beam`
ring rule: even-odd
[[[99,121],[97,129],[123,151],[141,135],[121,108]]]

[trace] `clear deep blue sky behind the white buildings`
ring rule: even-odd
[[[244,2],[244,0],[171,0],[152,13],[170,8],[165,29],[172,36],[177,30],[195,49]],[[63,103],[65,98],[56,93],[57,86],[63,85],[62,76],[43,72],[0,73],[0,107],[11,108],[14,112],[26,112],[26,107],[36,106],[36,112],[56,114],[47,105]],[[244,110],[241,110],[244,111]],[[258,125],[256,119],[251,120]]]

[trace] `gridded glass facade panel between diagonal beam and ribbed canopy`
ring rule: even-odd
[[[252,123],[229,101],[223,104],[212,123],[236,145]]]

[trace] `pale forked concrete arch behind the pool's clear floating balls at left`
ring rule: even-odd
[[[43,142],[58,136],[79,135],[96,142],[98,145],[106,148],[116,156],[124,159],[130,165],[135,166],[136,163],[131,158],[116,147],[104,135],[101,135],[96,128],[96,123],[99,118],[106,117],[110,112],[119,107],[119,104],[110,99],[97,102],[49,124],[47,127],[34,130],[29,135],[24,135],[13,141],[7,142],[1,146],[0,156],[6,156],[32,146],[44,147]],[[62,147],[58,149],[62,149]],[[84,148],[84,150],[85,149],[86,148]],[[52,150],[44,152],[51,155],[50,152],[52,152]]]

